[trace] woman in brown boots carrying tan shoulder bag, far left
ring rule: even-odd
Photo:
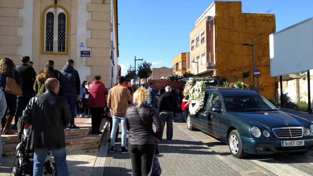
[[[1,133],[2,134],[13,134],[11,132],[11,123],[16,111],[16,100],[17,96],[10,94],[5,91],[7,85],[7,78],[15,79],[16,83],[22,88],[22,81],[18,74],[18,71],[15,70],[16,66],[10,58],[3,58],[0,60],[0,89],[3,91],[5,99],[7,101],[7,109],[4,113],[4,116],[1,119]],[[8,116],[7,112],[9,110]]]

